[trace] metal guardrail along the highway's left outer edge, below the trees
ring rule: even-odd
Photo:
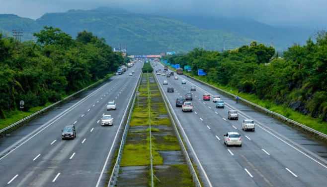
[[[59,100],[59,101],[57,101],[57,102],[51,104],[50,106],[47,106],[47,107],[43,108],[42,110],[39,110],[39,111],[33,113],[32,115],[29,115],[29,116],[27,116],[26,118],[21,119],[21,120],[17,121],[16,123],[14,123],[14,124],[12,124],[12,125],[6,127],[6,128],[1,129],[1,130],[0,130],[0,137],[3,137],[3,136],[4,136],[4,133],[6,133],[6,132],[8,132],[8,131],[11,131],[12,129],[14,129],[14,128],[16,128],[16,127],[22,126],[23,124],[25,124],[25,123],[28,122],[29,120],[35,118],[35,117],[38,116],[39,114],[48,111],[49,109],[51,109],[51,108],[57,106],[58,104],[62,103],[63,101],[66,101],[66,100],[72,98],[73,96],[75,96],[75,95],[77,95],[77,94],[79,94],[79,93],[82,93],[82,92],[84,92],[85,90],[87,90],[87,89],[89,89],[89,88],[91,88],[91,87],[93,87],[94,85],[97,85],[97,84],[99,84],[99,82],[93,83],[92,85],[90,85],[90,86],[88,86],[88,87],[86,87],[86,88],[84,88],[84,89],[82,89],[82,90],[80,90],[80,91],[78,91],[78,92],[76,92],[76,93],[73,93],[73,94],[71,94],[71,95],[69,95],[69,96],[67,96],[67,97],[65,97],[65,98],[63,98],[63,99],[61,99],[61,100]]]

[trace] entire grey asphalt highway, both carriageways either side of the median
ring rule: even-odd
[[[135,75],[114,76],[1,138],[0,186],[107,185],[107,172],[119,143],[116,137],[123,130],[121,122],[141,68],[142,64],[136,63],[128,70],[135,70]],[[161,65],[154,67],[159,68],[163,70]],[[326,143],[184,75],[177,76],[174,80],[173,76],[157,75],[204,187],[326,186]],[[186,85],[181,85],[182,79]],[[168,85],[162,84],[164,80]],[[166,92],[170,85],[173,93]],[[191,85],[197,90],[191,92]],[[193,93],[193,112],[175,106],[176,98],[186,92]],[[203,101],[203,93],[220,95],[225,108],[215,108],[212,100]],[[111,100],[116,101],[117,109],[106,111]],[[239,120],[227,119],[230,109],[238,110]],[[100,126],[103,114],[112,114],[113,126]],[[245,118],[255,120],[255,132],[242,131]],[[77,128],[75,140],[61,140],[61,130],[68,124]],[[223,135],[230,131],[242,135],[242,147],[224,144]]]

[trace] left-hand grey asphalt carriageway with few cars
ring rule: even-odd
[[[113,76],[0,139],[0,186],[105,186],[142,66],[136,63],[123,75]],[[135,70],[133,76],[128,75],[131,70]],[[112,100],[117,109],[107,111],[106,103]],[[113,126],[100,125],[103,114],[113,116]],[[76,126],[77,137],[62,140],[61,130],[71,124]]]

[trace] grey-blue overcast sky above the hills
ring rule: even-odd
[[[238,17],[274,26],[327,29],[327,0],[0,0],[0,14],[37,19],[45,13],[99,6],[163,16]]]

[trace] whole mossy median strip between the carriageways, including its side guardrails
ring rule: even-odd
[[[153,74],[142,74],[138,92],[108,186],[200,187]]]

